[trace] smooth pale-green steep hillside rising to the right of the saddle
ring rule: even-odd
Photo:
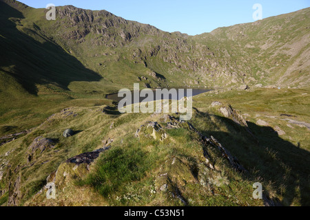
[[[194,39],[218,43],[238,65],[243,63],[247,68],[240,72],[249,76],[246,83],[309,87],[309,15],[310,8],[306,8],[254,23],[218,28]]]

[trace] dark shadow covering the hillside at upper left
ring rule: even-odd
[[[37,95],[36,84],[52,84],[68,90],[72,81],[101,80],[99,74],[85,68],[74,56],[47,39],[36,24],[32,23],[31,29],[25,28],[19,23],[20,19],[24,19],[21,12],[0,1],[0,67],[14,65],[14,71],[6,73],[30,94]],[[42,19],[45,19],[44,14]],[[31,36],[44,39],[45,43]]]

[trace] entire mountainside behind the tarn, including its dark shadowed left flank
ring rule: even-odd
[[[19,83],[27,78],[21,84],[32,93],[34,83],[64,89],[71,83],[69,89],[85,93],[87,81],[99,81],[94,90],[103,92],[138,82],[309,86],[310,8],[197,36],[72,5],[57,7],[56,21],[45,19],[48,10],[18,1],[2,1],[0,10],[1,69]]]

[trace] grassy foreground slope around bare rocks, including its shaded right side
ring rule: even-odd
[[[0,155],[6,152],[10,154],[0,159],[2,162],[10,161],[11,170],[17,168],[10,179],[15,179],[17,175],[23,178],[21,205],[183,205],[169,191],[159,190],[165,183],[165,179],[159,177],[169,173],[173,177],[172,186],[177,186],[183,198],[193,206],[262,205],[262,201],[251,199],[251,185],[256,181],[262,183],[270,197],[278,198],[282,204],[305,206],[309,205],[309,130],[295,124],[291,124],[291,129],[279,116],[280,113],[287,113],[295,115],[297,118],[294,119],[298,121],[309,121],[306,111],[309,109],[309,95],[302,95],[305,92],[309,92],[309,89],[291,90],[288,93],[257,89],[242,94],[239,92],[240,95],[201,94],[194,98],[194,107],[198,112],[195,111],[191,123],[207,137],[216,137],[249,170],[247,174],[234,171],[215,148],[209,148],[208,153],[215,159],[216,170],[206,168],[203,146],[198,137],[187,129],[166,130],[168,138],[163,142],[153,137],[139,141],[134,137],[136,129],[148,120],[159,122],[159,116],[134,113],[108,115],[102,113],[103,106],[68,109],[76,113],[76,117],[73,114],[67,116],[68,112],[56,113],[32,133],[3,145]],[[245,117],[259,144],[240,126],[223,118],[216,108],[209,107],[214,100],[231,103],[242,113],[249,114]],[[297,110],[291,108],[293,103],[300,100],[302,103]],[[281,104],[286,111],[282,110]],[[258,118],[269,122],[270,126],[256,125]],[[112,122],[114,126],[110,129]],[[273,131],[275,126],[280,126],[286,134],[278,136]],[[61,134],[68,127],[81,132],[66,139]],[[26,161],[28,146],[39,135],[54,138],[58,142],[56,148],[39,154],[31,164]],[[83,177],[83,183],[78,184],[76,180],[69,182],[70,187],[59,189],[57,200],[46,200],[44,191],[32,197],[61,162],[79,153],[100,148],[102,141],[108,137],[114,140],[111,150],[101,155],[96,165],[92,166],[92,174]],[[174,159],[180,163],[169,166]],[[123,171],[116,172],[116,175],[113,170],[118,168]],[[198,173],[198,177],[193,172]],[[203,179],[209,185],[204,186]],[[76,195],[75,191],[80,194]],[[95,195],[102,197],[92,202],[91,197]],[[80,198],[79,202],[76,202],[76,197]]]

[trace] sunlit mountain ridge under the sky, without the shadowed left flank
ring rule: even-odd
[[[304,82],[305,79],[307,80],[304,75],[309,70],[309,62],[304,61],[304,56],[309,54],[309,44],[307,44],[309,35],[307,33],[302,40],[303,44],[306,44],[300,48],[300,50],[304,50],[302,58],[297,57],[303,63],[302,65],[296,64],[300,71],[305,72],[302,76],[299,76],[295,69],[285,71],[287,63],[292,60],[293,56],[283,54],[283,50],[281,50],[276,52],[276,55],[282,58],[282,63],[276,62],[278,58],[274,59],[274,63],[271,63],[268,62],[268,56],[274,50],[269,51],[266,43],[265,46],[251,45],[251,42],[257,42],[258,36],[262,41],[269,35],[258,34],[249,37],[257,32],[253,27],[262,30],[262,32],[273,28],[273,35],[277,32],[282,34],[282,29],[278,27],[282,17],[288,18],[288,20],[291,17],[304,19],[302,17],[309,14],[309,8],[254,23],[217,28],[210,33],[188,36],[179,32],[163,32],[152,25],[136,21],[127,21],[106,10],[84,10],[72,5],[56,7],[56,14],[61,22],[57,19],[56,21],[46,21],[43,19],[45,12],[48,11],[46,9],[19,6],[17,1],[5,2],[12,5],[17,4],[17,8],[23,8],[24,14],[34,14],[34,12],[41,14],[39,17],[30,19],[30,22],[37,25],[40,30],[28,27],[30,30],[41,32],[61,46],[68,54],[76,57],[85,67],[103,76],[111,83],[119,81],[120,86],[138,83],[139,75],[147,77],[148,72],[160,74],[167,79],[161,82],[158,82],[156,78],[147,80],[145,84],[151,87],[165,85],[237,87],[242,83],[300,87],[309,84],[308,81]],[[27,16],[25,20],[28,20]],[[269,22],[271,20],[272,22]],[[276,24],[271,28],[269,23]],[[307,28],[307,25],[302,25],[302,23],[298,25]],[[301,34],[299,36],[296,32],[296,30],[294,32],[292,30],[292,36],[286,37],[286,41],[291,41],[292,37],[298,39]],[[247,43],[244,43],[245,37],[248,38]],[[285,47],[285,43],[279,44],[277,39],[271,40],[269,37],[269,41],[271,41],[271,45],[276,43]],[[273,56],[276,55],[273,54]],[[293,55],[296,56],[296,54]],[[254,57],[258,57],[258,61]],[[271,67],[275,64],[276,67]],[[279,65],[280,67],[278,67]],[[122,68],[118,69],[118,67]],[[122,75],[128,75],[124,77],[125,80],[119,77],[121,75],[119,72],[123,72]],[[294,76],[291,79],[283,80],[285,76],[292,74]],[[179,80],[175,81],[175,78]],[[274,82],[275,80],[276,82]]]

